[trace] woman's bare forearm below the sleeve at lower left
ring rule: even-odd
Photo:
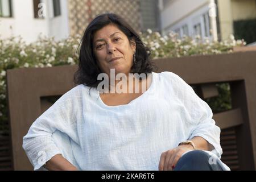
[[[73,166],[67,159],[63,158],[61,154],[53,156],[44,165],[49,171],[77,171],[77,168]]]

